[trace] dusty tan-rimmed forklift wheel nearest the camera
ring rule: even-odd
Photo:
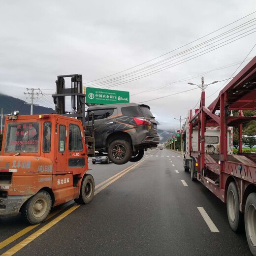
[[[46,191],[39,191],[33,195],[23,206],[21,213],[30,224],[43,222],[52,208],[52,198]]]

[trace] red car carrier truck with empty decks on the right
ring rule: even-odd
[[[230,116],[231,110],[238,114]],[[243,110],[256,110],[256,57],[208,107],[202,91],[200,108],[190,110],[186,123],[184,169],[226,203],[231,229],[245,227],[256,256],[256,154],[242,153],[242,125],[256,116],[244,116]],[[239,131],[238,155],[232,154],[233,127]]]

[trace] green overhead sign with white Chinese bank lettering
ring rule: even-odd
[[[129,92],[107,90],[93,87],[84,89],[86,103],[94,104],[116,104],[129,103]]]

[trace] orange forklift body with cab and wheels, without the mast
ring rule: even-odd
[[[88,204],[95,183],[87,174],[85,127],[58,114],[5,117],[0,155],[0,217],[22,213],[43,222],[53,206]]]

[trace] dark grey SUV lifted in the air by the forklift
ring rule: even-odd
[[[116,164],[141,160],[144,149],[157,147],[157,122],[144,104],[124,103],[91,106],[87,121],[95,117],[95,150],[107,152]]]

